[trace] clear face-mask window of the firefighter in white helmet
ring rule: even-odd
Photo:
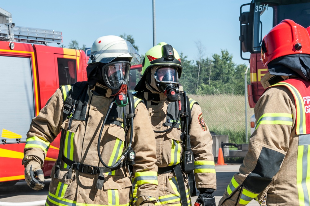
[[[126,61],[112,62],[104,65],[102,73],[110,89],[117,89],[129,79],[130,63]]]

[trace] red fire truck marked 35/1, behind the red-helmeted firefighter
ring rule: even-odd
[[[240,7],[240,55],[241,59],[250,62],[251,83],[247,90],[252,108],[264,91],[260,80],[268,72],[267,66],[264,67],[260,61],[262,39],[272,27],[284,19],[294,20],[305,28],[310,26],[310,0],[252,0]],[[244,52],[250,52],[250,59],[243,57]],[[251,130],[254,130],[254,127],[253,115]]]

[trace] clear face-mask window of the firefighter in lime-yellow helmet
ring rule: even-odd
[[[175,67],[160,67],[155,71],[155,79],[163,83],[179,83],[178,70]]]

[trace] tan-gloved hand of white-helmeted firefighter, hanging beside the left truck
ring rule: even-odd
[[[38,176],[38,179],[35,177]],[[25,165],[25,180],[27,185],[33,190],[41,190],[44,187],[44,174],[40,163],[33,160]]]

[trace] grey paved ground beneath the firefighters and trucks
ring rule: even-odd
[[[214,192],[215,200],[218,203],[226,187],[228,186],[234,173],[239,171],[240,164],[228,164],[228,165],[216,165],[216,179],[217,179],[217,191]],[[45,200],[48,187],[50,185],[51,179],[47,179],[44,184],[45,187],[40,191],[34,191],[30,189],[26,182],[17,182],[14,186],[0,187],[0,206],[1,202],[11,202],[16,203],[14,206],[20,206],[21,202],[31,202]],[[192,202],[196,201],[197,197],[192,197]],[[249,206],[258,206],[259,204],[252,200]]]

